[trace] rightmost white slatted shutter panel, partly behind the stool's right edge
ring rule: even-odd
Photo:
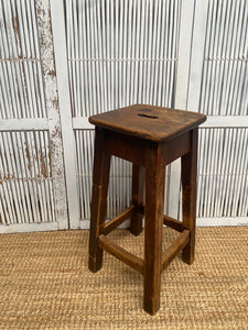
[[[209,0],[205,12],[198,6],[195,22],[187,107],[208,116],[200,132],[198,223],[245,224],[248,2]]]

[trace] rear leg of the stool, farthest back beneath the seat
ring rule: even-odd
[[[131,217],[130,232],[138,237],[142,231],[142,218],[139,206],[143,201],[143,182],[144,168],[132,164],[132,205],[137,206],[137,210]]]

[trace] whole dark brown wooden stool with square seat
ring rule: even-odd
[[[195,245],[195,206],[198,125],[201,113],[136,105],[93,116],[96,125],[93,172],[89,270],[97,272],[103,250],[131,266],[144,277],[144,310],[154,315],[160,307],[161,273],[182,250],[192,264]],[[110,157],[132,162],[132,204],[123,213],[105,222]],[[183,221],[163,215],[165,165],[182,157]],[[142,202],[141,173],[145,173],[145,206]],[[144,215],[144,261],[114,243],[107,234],[131,218],[130,231],[138,235]],[[162,253],[162,228],[181,232]]]

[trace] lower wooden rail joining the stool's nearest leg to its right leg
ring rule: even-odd
[[[162,254],[161,272],[168,267],[170,262],[190,242],[190,230],[184,229],[180,237],[165,250],[165,252]]]

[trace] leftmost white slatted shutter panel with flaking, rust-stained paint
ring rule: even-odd
[[[68,228],[46,0],[0,2],[0,232]]]

